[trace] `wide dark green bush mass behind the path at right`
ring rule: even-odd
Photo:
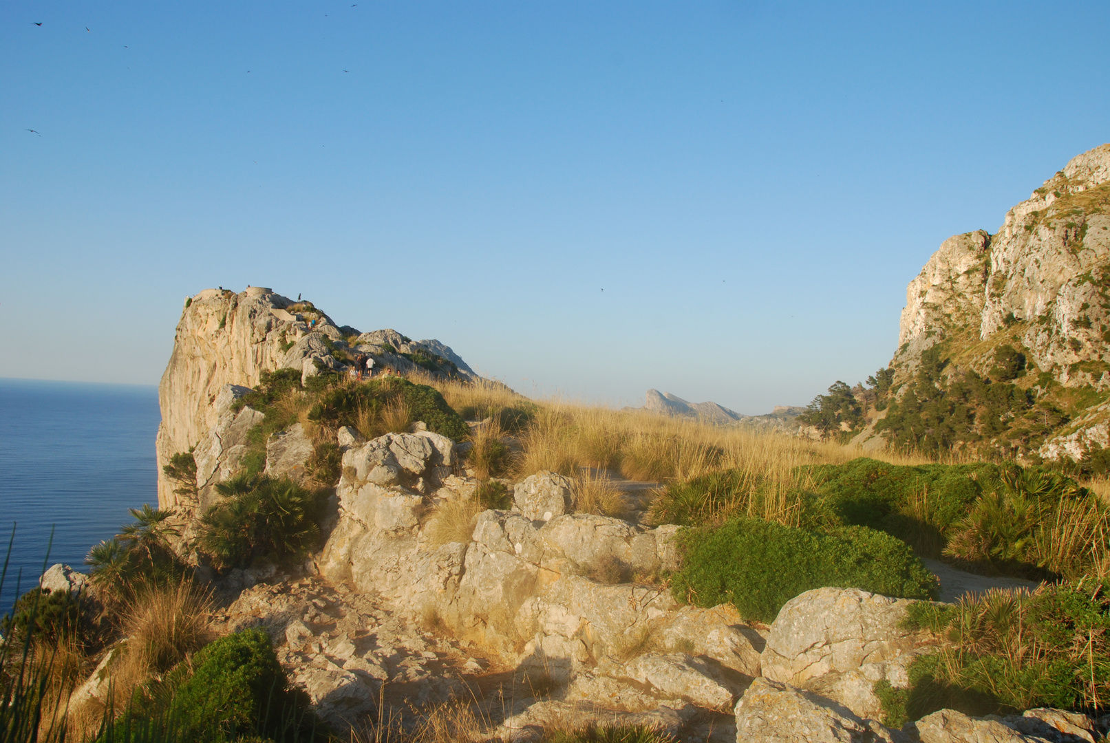
[[[1038,580],[1110,567],[1110,511],[1056,471],[867,458],[805,469],[820,510],[845,525],[886,531],[922,557]]]

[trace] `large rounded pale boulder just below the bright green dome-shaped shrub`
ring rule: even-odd
[[[806,591],[787,601],[775,618],[760,658],[763,674],[800,685],[932,642],[925,633],[899,627],[910,603],[855,588]]]

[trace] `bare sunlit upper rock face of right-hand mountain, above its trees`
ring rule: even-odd
[[[945,241],[906,289],[896,367],[912,369],[922,350],[946,338],[1001,334],[1061,384],[1110,388],[1103,378],[1110,367],[1071,368],[1102,360],[1107,349],[1108,204],[1110,144],[1103,144],[1011,208],[995,235],[979,230]]]

